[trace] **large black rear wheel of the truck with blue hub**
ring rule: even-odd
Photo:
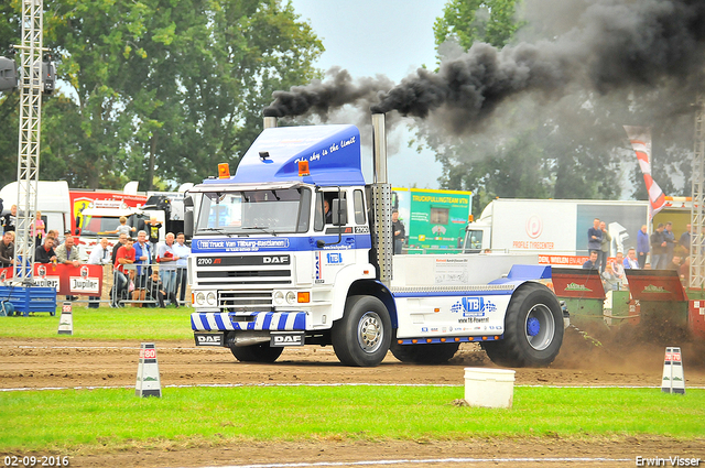
[[[505,338],[482,348],[499,366],[546,367],[563,344],[563,312],[544,285],[527,283],[513,294],[505,316]]]

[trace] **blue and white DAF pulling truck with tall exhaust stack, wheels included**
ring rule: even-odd
[[[480,342],[496,363],[547,366],[564,312],[531,255],[392,255],[384,116],[375,181],[355,126],[264,130],[237,173],[188,192],[188,281],[197,346],[273,362],[286,346],[332,345],[347,366],[440,363]],[[567,313],[566,313],[567,319]]]

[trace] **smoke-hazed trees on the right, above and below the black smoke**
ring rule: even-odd
[[[519,36],[551,40],[570,30],[523,20],[517,0],[449,0],[434,26],[438,56],[456,58],[476,42],[496,47]],[[692,117],[674,99],[647,89],[598,95],[575,86],[562,98],[527,94],[505,102],[468,134],[448,138],[419,121],[420,140],[443,165],[442,187],[475,193],[475,214],[495,197],[646,199],[622,124],[653,128],[653,174],[669,195],[690,192]],[[684,162],[685,159],[685,162]],[[633,185],[632,185],[633,184]],[[633,193],[632,193],[633,192]]]

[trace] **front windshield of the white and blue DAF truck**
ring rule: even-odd
[[[306,232],[308,188],[205,193],[196,233]]]

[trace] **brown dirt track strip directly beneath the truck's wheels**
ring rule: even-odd
[[[601,346],[566,331],[556,361],[547,369],[517,369],[518,385],[658,387],[663,370],[661,346],[609,342]],[[608,337],[609,338],[609,337]],[[0,388],[133,385],[137,341],[3,339]],[[464,344],[444,366],[404,364],[391,353],[377,368],[343,367],[330,347],[289,348],[274,364],[238,362],[226,348],[193,341],[156,344],[163,385],[259,383],[464,383],[464,368],[495,367],[478,345]],[[687,387],[705,387],[705,344],[684,345]]]

